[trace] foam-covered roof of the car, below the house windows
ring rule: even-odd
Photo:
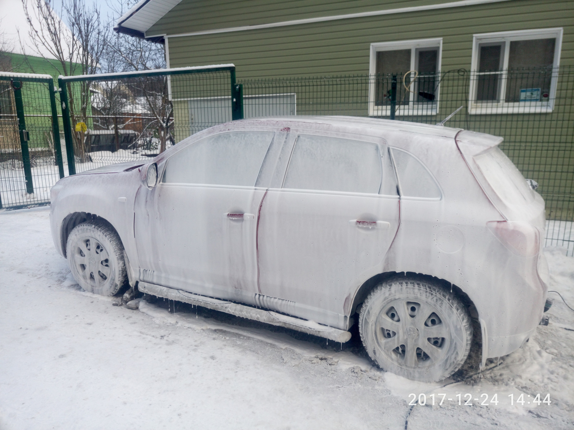
[[[253,118],[239,120],[239,123],[246,122],[267,122],[278,126],[283,123],[298,123],[298,124],[325,124],[335,128],[357,128],[368,127],[375,130],[393,130],[393,131],[406,131],[414,132],[432,136],[444,136],[447,138],[454,138],[456,134],[463,130],[462,128],[452,128],[444,126],[435,126],[432,124],[413,123],[408,121],[397,121],[390,119],[379,118],[363,118],[360,116],[269,116],[264,118]],[[270,124],[270,125],[272,125]]]

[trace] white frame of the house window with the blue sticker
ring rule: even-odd
[[[514,32],[480,33],[472,36],[472,62],[470,92],[468,93],[468,113],[471,115],[488,114],[536,114],[549,113],[554,108],[554,98],[556,97],[556,83],[558,80],[557,68],[560,65],[560,51],[562,46],[562,28],[518,30]],[[537,40],[556,38],[554,45],[554,62],[552,80],[550,81],[550,93],[548,101],[507,102],[506,80],[508,71],[508,60],[510,54],[510,42],[517,40]],[[502,72],[478,72],[480,50],[479,44],[503,42]],[[496,73],[501,75],[501,89],[498,101],[478,101],[476,92],[478,91],[478,77]]]

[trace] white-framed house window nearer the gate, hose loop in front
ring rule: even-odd
[[[423,39],[371,44],[369,115],[390,115],[393,77],[397,80],[397,115],[436,115],[442,42]]]

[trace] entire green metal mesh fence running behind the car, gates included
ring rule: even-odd
[[[56,162],[59,139],[53,138],[48,81],[26,81],[20,91],[30,136],[25,142],[29,170],[11,81],[0,75],[0,196],[4,206],[24,207],[48,202],[49,188],[63,171]],[[446,125],[503,136],[502,149],[525,177],[540,184],[549,220],[546,244],[574,253],[572,67],[277,78],[239,85],[235,67],[220,65],[71,76],[61,78],[59,86],[70,174],[146,161],[232,119],[351,115],[435,124],[463,107]]]

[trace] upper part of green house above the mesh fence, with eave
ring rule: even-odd
[[[572,65],[573,24],[560,0],[148,0],[115,29],[165,42],[169,67],[263,78]]]

